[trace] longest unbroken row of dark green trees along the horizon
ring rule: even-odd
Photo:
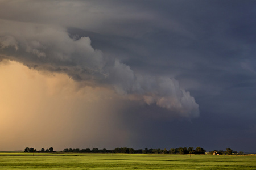
[[[121,147],[121,148],[115,148],[114,150],[106,150],[105,148],[102,150],[99,150],[98,148],[93,148],[90,150],[89,148],[80,150],[79,148],[72,149],[72,148],[65,148],[63,152],[76,152],[76,153],[123,153],[123,154],[205,154],[205,150],[201,147],[197,147],[194,149],[193,147],[189,147],[188,149],[186,147],[180,147],[180,148],[171,148],[170,150],[167,150],[164,148],[164,150],[158,148],[158,149],[148,149],[145,148],[144,150],[134,150],[133,148],[128,147]]]

